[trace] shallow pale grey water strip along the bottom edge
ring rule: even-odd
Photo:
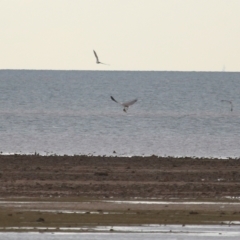
[[[0,238],[6,240],[105,240],[105,239],[126,239],[126,240],[204,240],[204,239],[239,239],[239,226],[221,225],[167,225],[167,226],[128,226],[128,227],[100,227],[99,229],[87,232],[0,232]],[[51,232],[52,231],[52,232]],[[78,230],[81,231],[81,230]],[[84,231],[84,229],[82,230]]]

